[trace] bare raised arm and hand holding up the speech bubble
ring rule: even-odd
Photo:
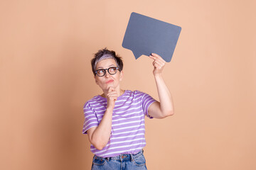
[[[149,115],[154,118],[166,118],[167,116],[174,114],[174,104],[171,98],[171,93],[161,74],[166,62],[159,55],[154,53],[152,53],[149,57],[154,60],[153,74],[160,100],[160,102],[156,101],[149,106]]]

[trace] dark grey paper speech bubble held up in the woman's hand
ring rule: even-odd
[[[181,27],[139,13],[131,13],[122,47],[132,50],[134,57],[154,52],[171,62]]]

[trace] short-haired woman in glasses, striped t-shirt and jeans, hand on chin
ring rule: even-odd
[[[92,169],[146,169],[143,155],[144,117],[166,118],[174,114],[171,94],[161,75],[165,61],[152,53],[154,78],[159,94],[155,101],[141,91],[120,88],[123,62],[114,51],[99,50],[92,59],[95,82],[103,91],[85,103],[85,123],[90,150],[95,156]]]

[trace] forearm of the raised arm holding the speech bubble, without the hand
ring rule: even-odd
[[[154,76],[156,81],[156,88],[159,94],[160,110],[162,115],[173,115],[174,104],[171,97],[171,93],[166,86],[161,74]]]

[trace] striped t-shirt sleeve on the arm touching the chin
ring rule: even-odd
[[[85,122],[82,128],[82,134],[87,134],[87,130],[89,130],[92,127],[97,127],[99,125],[99,122],[97,120],[95,112],[90,107],[90,103],[85,103],[83,111],[85,115]]]

